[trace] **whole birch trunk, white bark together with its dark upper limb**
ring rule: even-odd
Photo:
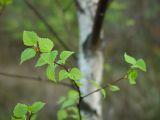
[[[108,0],[78,0],[78,21],[80,28],[79,67],[83,74],[81,94],[87,94],[96,88],[90,80],[98,84],[102,80],[103,53],[101,26]],[[94,93],[83,99],[81,113],[87,114],[85,120],[102,120],[101,94]],[[86,107],[87,106],[87,107]]]

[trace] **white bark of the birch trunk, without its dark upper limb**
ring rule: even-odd
[[[89,80],[95,80],[97,83],[101,83],[102,70],[103,70],[103,55],[100,49],[92,51],[89,48],[84,48],[86,40],[92,32],[94,17],[97,10],[99,0],[78,0],[81,10],[78,11],[78,21],[80,28],[80,51],[79,51],[79,67],[83,74],[80,87],[81,94],[87,94],[94,91],[93,85]],[[99,92],[94,93],[84,99],[84,102],[94,111],[91,113],[86,110],[81,110],[82,114],[89,115],[89,118],[83,118],[83,120],[102,120],[102,105],[101,94]]]

